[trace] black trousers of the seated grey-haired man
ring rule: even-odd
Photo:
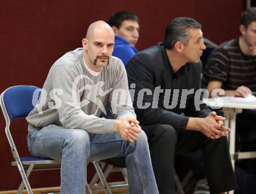
[[[152,166],[160,194],[175,192],[173,159],[177,153],[202,149],[204,167],[211,193],[237,188],[227,138],[211,140],[198,131],[176,131],[171,125],[141,126],[148,137]]]

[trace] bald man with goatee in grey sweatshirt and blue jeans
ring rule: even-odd
[[[96,21],[83,48],[52,65],[27,116],[29,151],[62,161],[61,193],[85,193],[88,160],[125,156],[130,193],[158,193],[147,137],[131,104],[125,67],[112,57],[112,28]],[[115,119],[99,118],[109,101]]]

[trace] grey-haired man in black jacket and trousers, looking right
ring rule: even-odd
[[[236,189],[225,137],[229,128],[202,103],[198,62],[204,49],[201,25],[178,17],[166,28],[163,43],[136,54],[126,67],[161,194],[175,193],[175,153],[200,148],[211,193]]]

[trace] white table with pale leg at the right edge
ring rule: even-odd
[[[204,99],[204,103],[211,108],[222,107],[221,111],[224,112],[225,126],[230,128],[229,133],[229,152],[231,156],[231,162],[234,169],[234,162],[237,159],[249,159],[256,158],[256,152],[235,152],[236,143],[236,114],[241,113],[242,109],[256,109],[256,103],[248,104],[234,101],[215,101],[212,98]],[[256,119],[255,119],[256,121]],[[229,193],[233,193],[229,192]]]

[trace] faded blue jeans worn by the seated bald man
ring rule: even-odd
[[[130,194],[158,193],[147,136],[141,131],[133,143],[117,133],[89,134],[81,129],[49,125],[29,131],[31,155],[62,161],[61,193],[85,193],[87,160],[125,156]]]

